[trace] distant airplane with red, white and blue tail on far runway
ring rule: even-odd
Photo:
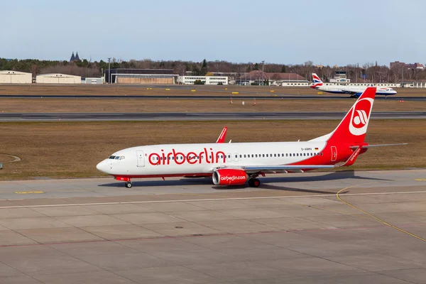
[[[324,84],[317,74],[312,73],[312,81],[314,82],[310,87],[318,91],[328,92],[332,94],[350,94],[351,97],[359,97],[365,90],[366,86],[345,86],[339,84]],[[377,87],[376,94],[383,96],[390,96],[396,94],[396,91],[391,87]]]

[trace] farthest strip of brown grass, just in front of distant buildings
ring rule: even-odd
[[[148,89],[147,87],[151,87]],[[170,90],[166,90],[170,89]],[[195,89],[195,92],[191,92]],[[274,91],[274,92],[271,92]],[[426,89],[417,88],[398,88],[397,96],[408,97],[426,97]],[[239,92],[240,94],[231,94],[232,92]],[[52,94],[115,94],[115,95],[168,95],[173,97],[175,95],[189,95],[194,94],[197,96],[214,95],[238,97],[244,94],[255,94],[259,96],[273,96],[280,94],[308,94],[308,95],[333,95],[333,94],[317,94],[315,89],[310,87],[270,87],[270,86],[179,86],[171,85],[165,86],[146,86],[146,85],[120,85],[120,84],[69,84],[69,85],[56,85],[56,84],[0,84],[0,94],[41,94],[49,96]]]

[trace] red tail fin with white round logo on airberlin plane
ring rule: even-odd
[[[376,87],[368,87],[331,133],[330,142],[363,143],[366,137]]]

